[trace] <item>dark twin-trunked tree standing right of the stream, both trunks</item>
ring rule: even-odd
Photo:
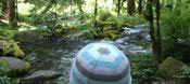
[[[153,0],[147,2],[148,20],[150,24],[150,36],[152,41],[152,51],[155,60],[162,61],[162,43],[160,32],[160,1],[156,2],[156,29],[154,28]]]

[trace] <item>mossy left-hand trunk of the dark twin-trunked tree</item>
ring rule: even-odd
[[[155,38],[155,31],[154,31],[154,24],[153,24],[153,20],[154,20],[154,16],[153,16],[153,0],[148,0],[147,2],[147,9],[148,9],[148,20],[149,20],[149,24],[150,24],[150,37],[151,37],[151,41],[152,41],[152,51],[153,51],[153,55],[154,55],[154,58],[159,58],[160,55],[157,54],[157,42],[156,42],[156,38]],[[157,59],[156,59],[157,60]]]

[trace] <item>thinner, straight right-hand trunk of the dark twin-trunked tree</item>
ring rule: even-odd
[[[160,28],[160,14],[161,14],[161,2],[160,2],[160,0],[156,0],[156,10],[155,10],[155,12],[156,12],[156,42],[157,42],[157,54],[159,54],[159,56],[160,57],[157,57],[156,59],[159,60],[159,61],[162,61],[162,38],[161,38],[161,28]]]

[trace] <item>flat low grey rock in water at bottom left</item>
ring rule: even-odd
[[[30,75],[22,79],[23,84],[41,84],[46,81],[52,81],[59,79],[63,74],[55,72],[55,71],[36,71]]]

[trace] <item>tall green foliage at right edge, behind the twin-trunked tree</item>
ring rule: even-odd
[[[190,3],[178,2],[170,12],[165,9],[162,13],[163,52],[182,61],[190,60]],[[174,54],[175,53],[175,54]]]

